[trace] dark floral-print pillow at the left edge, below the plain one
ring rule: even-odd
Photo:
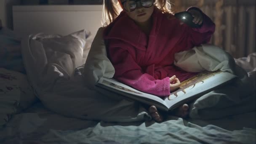
[[[36,100],[26,75],[0,68],[0,125],[7,123],[12,115],[28,108]]]

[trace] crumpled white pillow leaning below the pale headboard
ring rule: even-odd
[[[43,53],[36,53],[42,57],[42,62],[58,64],[64,75],[71,76],[75,68],[85,63],[91,48],[92,36],[91,32],[83,29],[66,36],[39,33],[33,35],[32,39],[30,47],[39,49],[37,47],[41,46],[43,49]],[[62,61],[66,62],[62,63]]]

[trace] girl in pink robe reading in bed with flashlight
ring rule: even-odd
[[[120,14],[118,4],[123,9]],[[115,79],[161,97],[195,75],[175,67],[173,61],[175,53],[211,39],[215,24],[199,8],[187,9],[193,22],[201,25],[191,28],[173,16],[168,0],[105,0],[104,5],[104,40],[115,67]],[[149,107],[149,113],[157,122],[163,120],[155,106]],[[180,117],[187,114],[187,104],[176,113]]]

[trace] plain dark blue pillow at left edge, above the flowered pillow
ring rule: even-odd
[[[21,56],[21,41],[5,27],[0,29],[0,67],[26,73]]]

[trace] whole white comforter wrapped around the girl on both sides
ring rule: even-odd
[[[76,53],[80,53],[80,56],[76,56]],[[83,48],[76,48],[76,45],[72,49],[65,49],[51,43],[43,44],[40,35],[30,35],[22,41],[22,54],[29,81],[45,107],[62,115],[90,120],[132,122],[151,118],[147,110],[134,101],[125,100],[107,91],[95,91],[94,85],[100,77],[112,77],[115,72],[107,59],[102,29],[99,29],[93,41],[84,74],[83,71],[79,73],[79,69],[83,70],[83,67],[75,69],[83,64],[81,53]],[[226,85],[194,101],[190,105],[190,117],[214,119],[255,110],[255,83],[220,48],[203,45],[179,53],[176,55],[176,65],[183,69],[187,65],[193,66],[186,69],[188,71],[221,69],[240,77],[237,83]],[[255,77],[255,73],[253,76]]]

